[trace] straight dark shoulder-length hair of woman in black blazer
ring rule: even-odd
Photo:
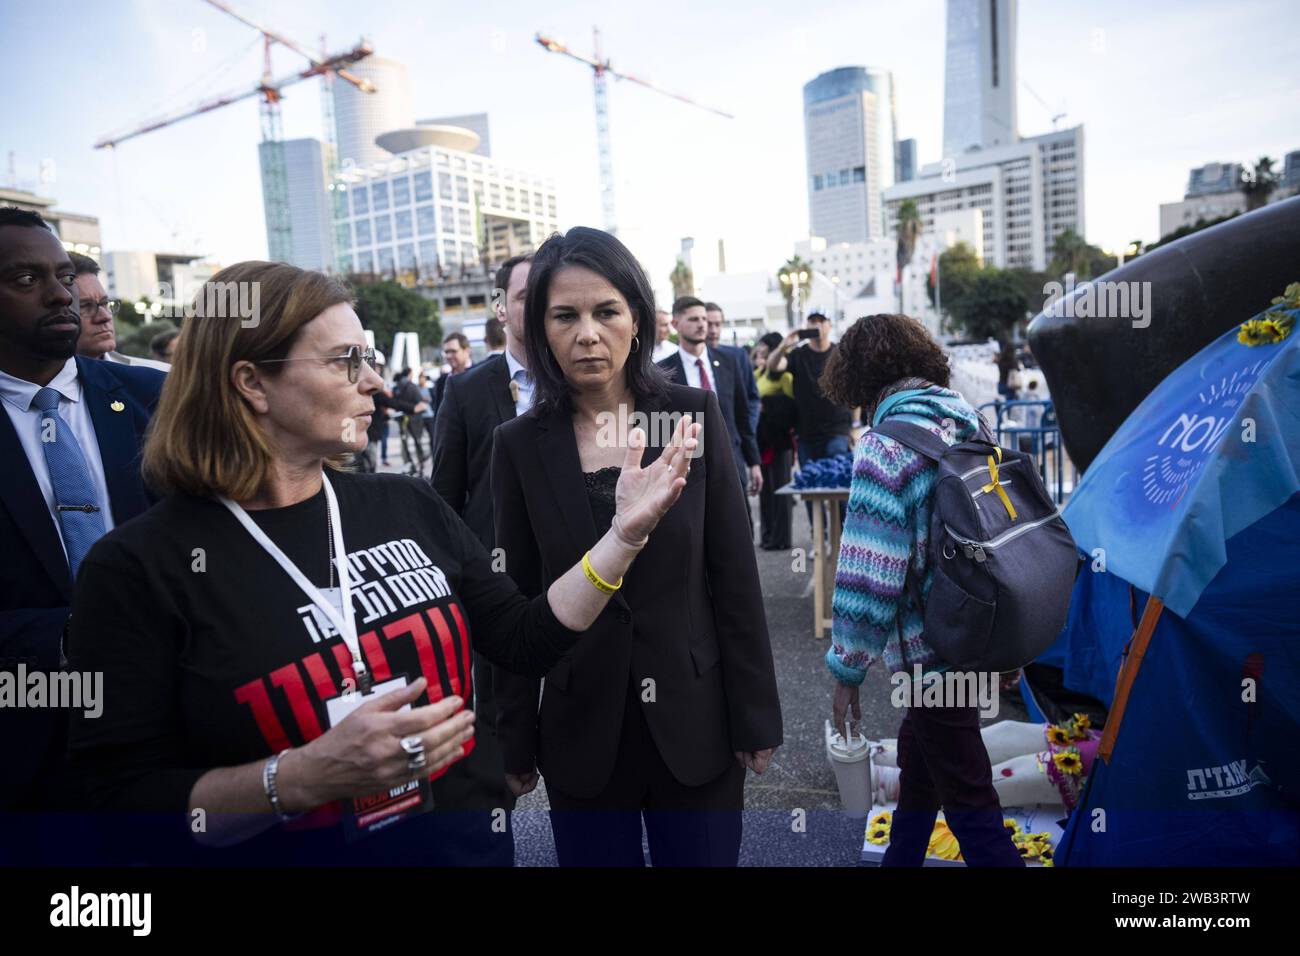
[[[668,378],[651,355],[655,339],[654,289],[645,269],[615,237],[599,229],[573,226],[564,234],[555,233],[542,243],[533,256],[532,272],[528,273],[524,350],[528,352],[528,369],[537,389],[534,405],[541,407],[554,402],[560,408],[572,407],[572,390],[546,342],[551,281],[556,272],[571,265],[597,273],[628,300],[641,346],[628,355],[623,367],[628,388],[638,399],[662,395]]]

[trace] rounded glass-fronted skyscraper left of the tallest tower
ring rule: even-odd
[[[894,182],[893,75],[841,66],[803,86],[809,226],[829,243],[884,232],[880,191]]]

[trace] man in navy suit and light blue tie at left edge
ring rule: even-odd
[[[60,670],[82,558],[151,503],[139,449],[165,376],[74,355],[74,272],[44,220],[0,209],[0,671],[13,675]],[[0,813],[72,805],[66,715],[0,708]]]

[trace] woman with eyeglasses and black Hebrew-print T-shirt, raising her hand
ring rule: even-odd
[[[272,263],[211,281],[260,312],[200,294],[144,451],[166,497],[82,564],[68,654],[105,693],[74,767],[127,860],[510,865],[504,810],[472,797],[471,652],[540,676],[581,643],[698,428],[645,467],[632,442],[623,536],[529,601],[428,483],[337,470],[382,388],[347,290]]]

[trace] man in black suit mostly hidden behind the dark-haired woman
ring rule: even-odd
[[[493,433],[503,421],[528,411],[533,385],[524,356],[524,291],[532,255],[508,259],[497,271],[498,312],[506,325],[504,355],[489,355],[468,372],[445,376],[446,390],[433,427],[433,486],[451,505],[484,546],[497,546],[493,523],[491,472]],[[515,797],[537,786],[537,775],[510,775],[497,747],[498,682],[523,680],[474,654],[474,701],[478,715],[478,745],[490,745],[495,779],[485,780],[493,806],[512,808]],[[534,688],[536,682],[528,682]]]

